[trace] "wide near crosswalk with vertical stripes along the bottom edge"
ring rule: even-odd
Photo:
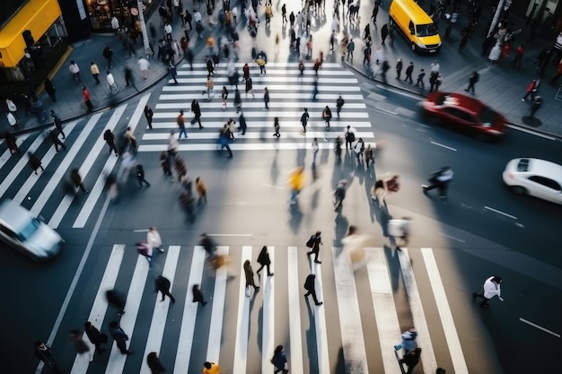
[[[245,291],[242,266],[246,259],[258,257],[259,247],[218,247],[219,253],[230,258],[218,269],[209,265],[202,247],[171,245],[165,249],[154,255],[151,268],[134,247],[116,244],[107,263],[104,261],[101,279],[89,275],[92,279],[82,281],[87,284],[84,292],[96,290],[91,304],[81,302],[83,317],[106,333],[110,321],[119,317],[105,300],[105,291],[115,288],[127,294],[120,326],[129,336],[128,349],[135,354],[121,354],[110,340],[110,352],[96,353],[95,361],[91,362],[87,354],[73,355],[71,373],[149,374],[145,363],[149,352],[158,352],[167,372],[176,374],[200,372],[204,361],[218,362],[227,373],[266,373],[273,370],[269,361],[273,350],[283,344],[293,373],[400,374],[393,346],[400,343],[400,322],[405,322],[400,321],[403,313],[395,304],[401,296],[393,290],[396,280],[388,264],[388,248],[364,248],[364,266],[357,267],[354,257],[343,248],[323,248],[320,265],[307,260],[306,248],[268,247],[275,275],[256,274],[260,290],[252,291],[250,296]],[[432,248],[419,250],[426,272],[439,278]],[[408,248],[393,256],[400,260],[401,282],[412,314],[422,309],[423,315]],[[162,302],[154,293],[158,274],[171,281],[175,303],[169,299]],[[303,298],[308,274],[316,274],[316,292],[324,302],[322,306]],[[446,297],[437,298],[440,282],[438,279],[431,283],[436,302],[440,313],[450,313]],[[194,284],[200,284],[205,291],[206,306],[192,302]],[[425,302],[433,301],[426,299]],[[369,321],[365,323],[364,315],[374,315],[374,326]],[[423,370],[415,372],[435,372],[435,339],[425,319],[414,316],[414,322],[419,334],[417,343],[423,347]],[[456,330],[453,333],[447,335],[447,344],[454,351],[451,359],[455,372],[468,373],[457,369],[463,365],[466,369],[466,364],[462,352],[456,352],[460,344],[455,345]],[[88,341],[85,335],[84,340]],[[59,341],[68,344],[66,339]],[[58,348],[68,352],[65,347]],[[443,351],[440,346],[440,354]],[[382,360],[374,361],[373,356]]]

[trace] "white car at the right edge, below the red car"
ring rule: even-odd
[[[514,159],[507,162],[503,178],[516,194],[562,204],[562,165],[558,163],[531,158]]]

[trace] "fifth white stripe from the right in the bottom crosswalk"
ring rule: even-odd
[[[312,263],[312,274],[316,275],[316,296],[318,300],[324,300],[324,293],[322,292],[322,268],[320,264]],[[312,306],[314,302],[311,300]],[[328,308],[326,304],[314,308],[314,330],[316,331],[316,355],[318,357],[318,372],[329,373],[331,372],[329,366],[328,356],[328,334],[326,325],[326,314],[324,309]]]

